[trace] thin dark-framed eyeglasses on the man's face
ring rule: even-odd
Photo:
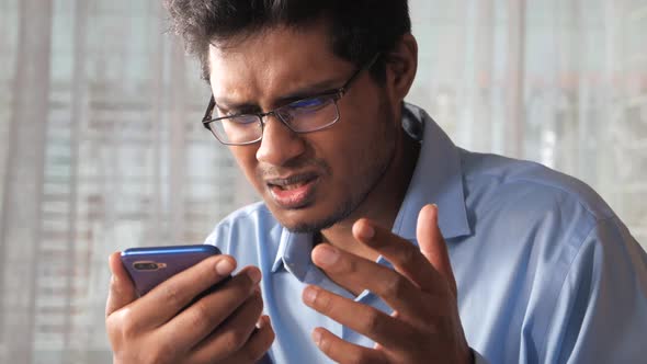
[[[375,55],[371,61],[360,67],[341,88],[291,102],[266,113],[212,117],[216,106],[216,101],[212,94],[202,124],[214,134],[216,139],[229,146],[245,146],[261,140],[266,123],[264,117],[269,115],[274,115],[294,133],[310,133],[325,129],[340,118],[337,101],[348,92],[353,81],[364,70],[373,67],[378,57],[379,54]]]

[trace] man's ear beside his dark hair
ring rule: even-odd
[[[418,43],[412,34],[402,36],[394,50],[386,55],[386,81],[390,96],[401,103],[409,93],[418,69]]]

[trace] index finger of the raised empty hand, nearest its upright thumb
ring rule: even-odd
[[[433,292],[441,282],[440,274],[433,269],[420,249],[409,240],[362,218],[353,225],[355,239],[381,253],[396,271],[405,275],[418,287]]]

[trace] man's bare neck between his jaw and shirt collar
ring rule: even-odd
[[[332,227],[321,230],[322,240],[355,255],[368,260],[377,259],[377,252],[355,241],[352,236],[353,224],[365,217],[381,227],[387,229],[393,227],[409,187],[419,151],[420,144],[402,130],[395,155],[382,180],[353,214]]]

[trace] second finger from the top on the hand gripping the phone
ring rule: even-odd
[[[160,335],[164,338],[164,342],[174,341],[180,348],[194,346],[254,294],[254,287],[260,280],[261,272],[258,268],[245,268],[223,286],[171,319],[160,329]]]

